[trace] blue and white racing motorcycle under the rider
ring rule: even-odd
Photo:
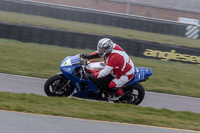
[[[45,82],[44,91],[47,96],[73,96],[111,101],[113,93],[104,88],[105,85],[100,84],[98,80],[88,78],[88,74],[100,71],[104,67],[104,62],[84,62],[79,54],[67,56],[60,65],[62,73],[50,77]],[[151,75],[152,69],[135,67],[135,77],[122,87],[124,95],[115,102],[140,104],[145,96],[145,90],[140,82],[146,81]]]

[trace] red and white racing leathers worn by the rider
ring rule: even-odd
[[[90,54],[90,59],[99,58],[98,52]],[[126,52],[117,44],[113,43],[113,50],[104,57],[105,68],[94,73],[95,79],[103,78],[111,74],[114,79],[109,83],[109,88],[117,87],[115,95],[120,96],[123,91],[120,87],[134,77],[134,64]]]

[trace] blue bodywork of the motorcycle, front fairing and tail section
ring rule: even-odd
[[[60,64],[62,74],[68,78],[75,86],[75,92],[72,94],[77,97],[89,97],[90,94],[95,94],[96,97],[100,94],[100,90],[89,79],[80,79],[74,76],[74,70],[78,67],[82,67],[81,59],[79,56],[68,56]],[[152,75],[152,69],[135,67],[135,77],[129,81],[126,85],[133,85],[137,82],[143,81]],[[84,85],[87,85],[89,89],[84,89]],[[91,93],[92,92],[92,93]]]

